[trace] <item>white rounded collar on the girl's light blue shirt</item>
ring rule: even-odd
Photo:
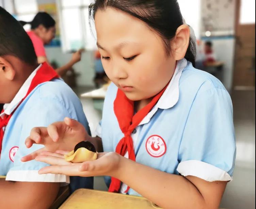
[[[156,113],[157,109],[169,109],[173,107],[179,100],[179,80],[182,71],[186,68],[188,62],[185,58],[179,60],[177,62],[177,66],[175,68],[175,71],[173,73],[172,79],[163,92],[163,95],[158,100],[157,104],[151,109],[151,111],[146,115],[145,118],[140,122],[139,125],[148,123],[153,117],[153,115]]]

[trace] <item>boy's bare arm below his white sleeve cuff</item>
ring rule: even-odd
[[[49,208],[58,194],[59,187],[59,183],[0,179],[0,208]]]

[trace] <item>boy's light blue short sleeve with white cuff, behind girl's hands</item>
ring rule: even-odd
[[[21,162],[21,157],[36,151],[43,145],[33,144],[30,149],[25,146],[25,140],[30,135],[31,129],[37,126],[48,126],[49,124],[62,121],[65,117],[70,117],[65,106],[52,98],[38,99],[36,105],[28,110],[26,108],[26,117],[20,130],[19,149],[14,157],[14,167],[6,175],[6,180],[11,181],[34,181],[34,182],[66,182],[69,183],[69,177],[61,174],[38,174],[38,170],[48,166],[44,162],[31,160]]]

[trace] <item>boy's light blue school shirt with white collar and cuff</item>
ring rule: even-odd
[[[35,71],[21,87],[14,100],[7,106],[6,111],[8,111],[7,109],[12,111],[24,97]],[[5,128],[0,156],[0,175],[6,175],[6,180],[12,181],[68,183],[69,177],[65,175],[39,175],[38,170],[48,166],[44,162],[35,160],[21,162],[20,160],[21,157],[43,147],[43,145],[33,144],[30,149],[26,148],[25,140],[33,127],[48,126],[53,122],[63,121],[65,117],[78,120],[90,134],[81,102],[67,84],[61,79],[54,79],[38,85],[18,106]],[[70,181],[72,180],[70,179]],[[93,178],[75,178],[75,181],[74,184],[77,188],[93,187]],[[81,186],[77,185],[79,182]],[[71,185],[71,188],[73,186]]]

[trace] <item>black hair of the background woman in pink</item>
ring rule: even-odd
[[[31,29],[36,29],[42,24],[46,29],[55,26],[55,20],[46,12],[38,12],[31,22],[19,21],[22,25],[31,24]]]

